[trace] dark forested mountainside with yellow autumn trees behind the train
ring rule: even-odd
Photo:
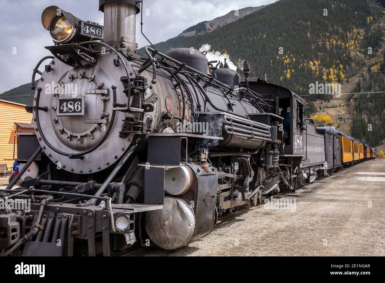
[[[195,35],[179,35],[156,47],[166,53],[211,45],[239,67],[248,60],[252,76],[266,74],[269,83],[303,96],[309,103],[306,118],[317,116],[320,125],[330,122],[329,115],[333,124],[374,147],[385,137],[385,95],[373,94],[385,91],[383,5],[385,0],[280,0],[235,22],[213,22],[210,32],[203,32],[207,22],[198,24],[183,32]],[[310,84],[317,82],[339,83],[342,93],[368,94],[338,100],[311,94]]]

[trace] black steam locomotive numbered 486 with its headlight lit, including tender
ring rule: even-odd
[[[329,140],[357,142],[317,130],[305,100],[251,78],[247,61],[240,78],[192,48],[147,46],[141,57],[141,3],[100,0],[103,26],[56,6],[42,13],[54,45],[33,70],[35,132],[18,132],[22,165],[0,190],[0,256],[180,248],[221,215],[342,167],[325,158]]]

